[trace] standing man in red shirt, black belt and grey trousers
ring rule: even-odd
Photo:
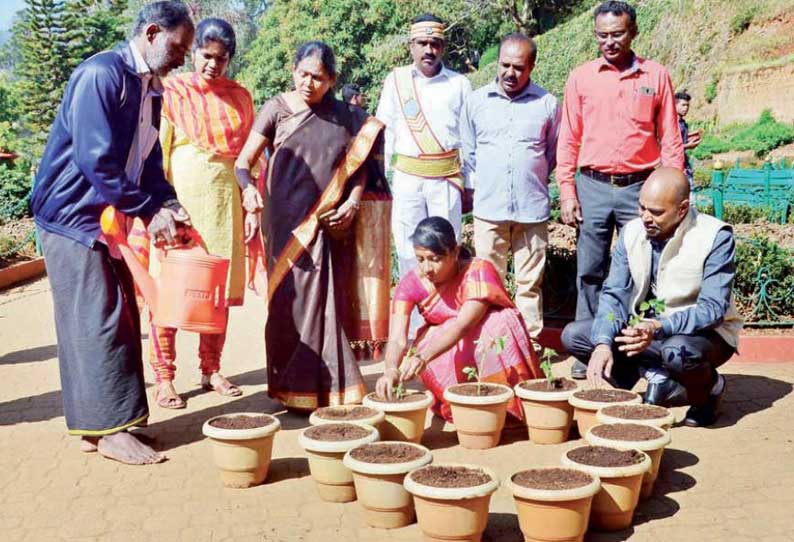
[[[670,75],[631,49],[634,8],[607,1],[594,21],[602,56],[568,77],[557,146],[562,219],[579,227],[577,320],[595,316],[613,231],[638,215],[643,181],[659,165],[684,167]],[[585,378],[586,367],[572,375]]]

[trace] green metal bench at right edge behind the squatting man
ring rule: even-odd
[[[786,169],[785,162],[767,162],[763,169],[727,171],[720,162],[714,164],[711,186],[695,190],[695,202],[711,201],[714,216],[722,219],[725,204],[762,208],[768,211],[767,218],[784,224],[794,200],[794,169]]]

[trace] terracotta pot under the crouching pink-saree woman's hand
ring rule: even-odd
[[[418,395],[423,397],[417,397]],[[379,429],[382,431],[383,440],[419,443],[425,432],[427,409],[432,402],[433,395],[429,391],[406,390],[402,401],[380,401],[374,393],[370,393],[364,397],[362,404],[385,414]]]

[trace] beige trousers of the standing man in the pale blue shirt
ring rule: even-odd
[[[513,253],[516,280],[516,307],[524,317],[527,331],[537,339],[543,329],[543,268],[549,231],[546,222],[489,222],[474,218],[474,250],[494,264],[502,280],[507,258]]]

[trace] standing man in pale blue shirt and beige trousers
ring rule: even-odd
[[[496,80],[469,96],[460,122],[463,172],[474,188],[477,256],[504,280],[513,255],[515,303],[533,340],[543,329],[548,183],[561,115],[557,99],[530,80],[536,58],[527,36],[503,38]]]

